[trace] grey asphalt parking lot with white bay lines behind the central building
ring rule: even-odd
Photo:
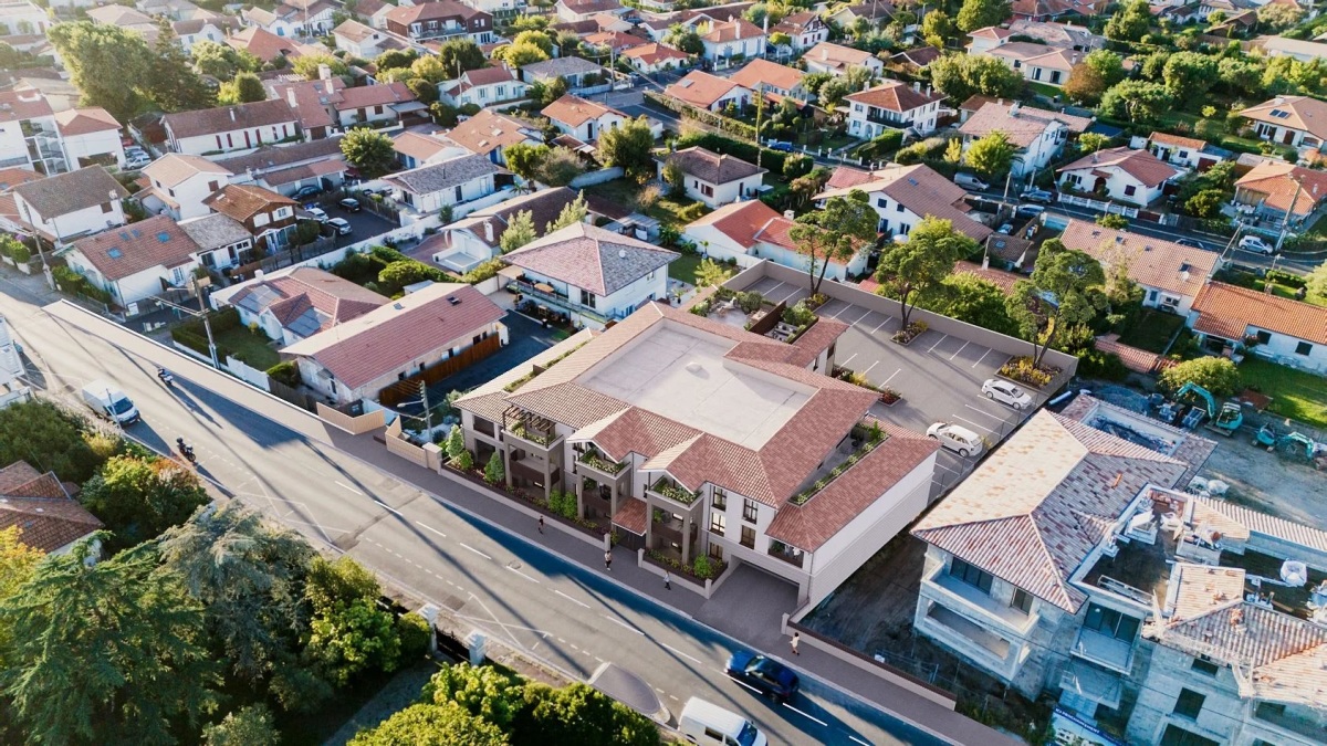
[[[805,285],[780,283],[772,277],[763,277],[747,289],[790,305],[809,295]],[[901,345],[892,340],[902,325],[897,317],[839,299],[824,304],[816,313],[851,327],[839,337],[836,365],[859,372],[872,385],[889,386],[902,396],[902,401],[890,406],[876,404],[872,414],[881,419],[917,433],[925,433],[936,422],[949,422],[981,435],[989,450],[1046,401],[1043,394],[1028,390],[1035,406],[1018,411],[982,396],[982,382],[995,377],[1009,360],[1007,353],[934,329]],[[979,458],[963,458],[942,450],[933,499],[971,471]]]

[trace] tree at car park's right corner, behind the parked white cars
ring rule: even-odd
[[[1019,333],[1032,342],[1032,364],[1040,365],[1055,336],[1089,325],[1109,305],[1105,272],[1092,255],[1068,250],[1059,239],[1042,244],[1028,280],[1014,284],[1005,304]]]

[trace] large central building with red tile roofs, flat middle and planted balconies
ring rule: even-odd
[[[925,508],[937,450],[889,423],[864,449],[877,394],[809,370],[847,329],[820,325],[803,346],[646,304],[462,397],[466,447],[629,548],[752,564],[815,605]]]

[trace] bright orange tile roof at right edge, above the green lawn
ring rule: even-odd
[[[1314,344],[1327,344],[1327,308],[1249,288],[1208,283],[1193,300],[1198,320],[1193,329],[1223,340],[1242,341],[1250,327]]]

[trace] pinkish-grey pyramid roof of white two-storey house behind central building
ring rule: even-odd
[[[576,223],[536,239],[503,260],[545,277],[612,295],[678,258],[666,248],[588,223]]]

